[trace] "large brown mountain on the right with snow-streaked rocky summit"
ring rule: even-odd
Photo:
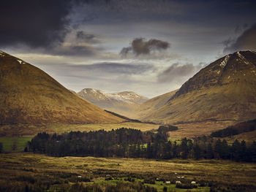
[[[142,120],[159,123],[244,121],[256,117],[256,53],[238,51],[201,69]]]

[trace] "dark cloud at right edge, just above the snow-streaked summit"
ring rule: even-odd
[[[224,53],[238,50],[256,50],[256,24],[244,31],[237,39],[227,39],[224,45]]]

